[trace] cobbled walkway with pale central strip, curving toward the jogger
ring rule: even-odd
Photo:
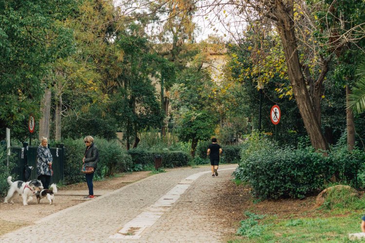
[[[149,176],[2,235],[0,242],[222,242],[211,196],[237,165]],[[219,189],[217,191],[217,189]]]

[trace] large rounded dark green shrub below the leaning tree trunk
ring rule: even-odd
[[[303,198],[329,177],[327,157],[310,148],[262,148],[246,157],[240,167],[238,178],[249,181],[260,198]]]

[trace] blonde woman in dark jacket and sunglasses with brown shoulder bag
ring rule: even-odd
[[[85,174],[86,183],[88,184],[88,188],[89,188],[89,195],[86,196],[85,198],[92,199],[92,198],[94,198],[92,179],[94,177],[97,163],[99,161],[99,153],[98,153],[98,149],[96,148],[96,146],[94,144],[94,139],[91,136],[87,136],[84,139],[84,142],[86,145],[86,151],[85,151],[85,155],[84,155],[84,158],[82,159],[82,161],[85,163],[85,166],[90,166],[90,167],[94,168],[93,173]]]

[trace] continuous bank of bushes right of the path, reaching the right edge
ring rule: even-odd
[[[338,144],[324,156],[301,144],[297,149],[280,148],[265,138],[249,137],[243,144],[236,178],[250,182],[260,198],[303,198],[323,188],[335,172],[343,183],[360,185],[363,151],[348,152],[346,145]]]

